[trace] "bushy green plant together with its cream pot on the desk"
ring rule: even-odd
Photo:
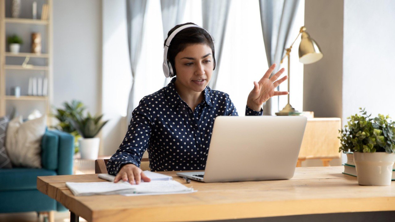
[[[395,122],[381,114],[371,119],[359,109],[362,115],[347,117],[344,130],[339,130],[339,152],[354,152],[359,185],[388,186],[395,162]]]

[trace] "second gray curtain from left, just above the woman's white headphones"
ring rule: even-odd
[[[167,32],[171,28],[180,24],[185,11],[186,0],[160,0],[162,9],[163,41],[167,38]],[[165,77],[164,87],[171,78]]]

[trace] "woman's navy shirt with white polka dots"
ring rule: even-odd
[[[205,169],[215,117],[238,114],[228,94],[209,87],[192,111],[175,90],[175,79],[134,109],[128,132],[107,163],[109,174],[116,175],[128,163],[139,167],[146,150],[151,171]],[[246,115],[262,112],[246,106]]]

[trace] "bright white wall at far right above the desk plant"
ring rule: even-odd
[[[344,124],[358,107],[395,118],[394,9],[393,0],[344,0]]]

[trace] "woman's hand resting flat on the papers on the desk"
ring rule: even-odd
[[[134,181],[136,181],[136,184],[139,184],[141,180],[143,180],[144,182],[151,181],[151,179],[149,179],[144,174],[144,172],[134,164],[125,164],[124,166],[122,166],[117,176],[115,176],[114,182],[118,182],[120,180],[129,180],[130,184],[134,184]]]

